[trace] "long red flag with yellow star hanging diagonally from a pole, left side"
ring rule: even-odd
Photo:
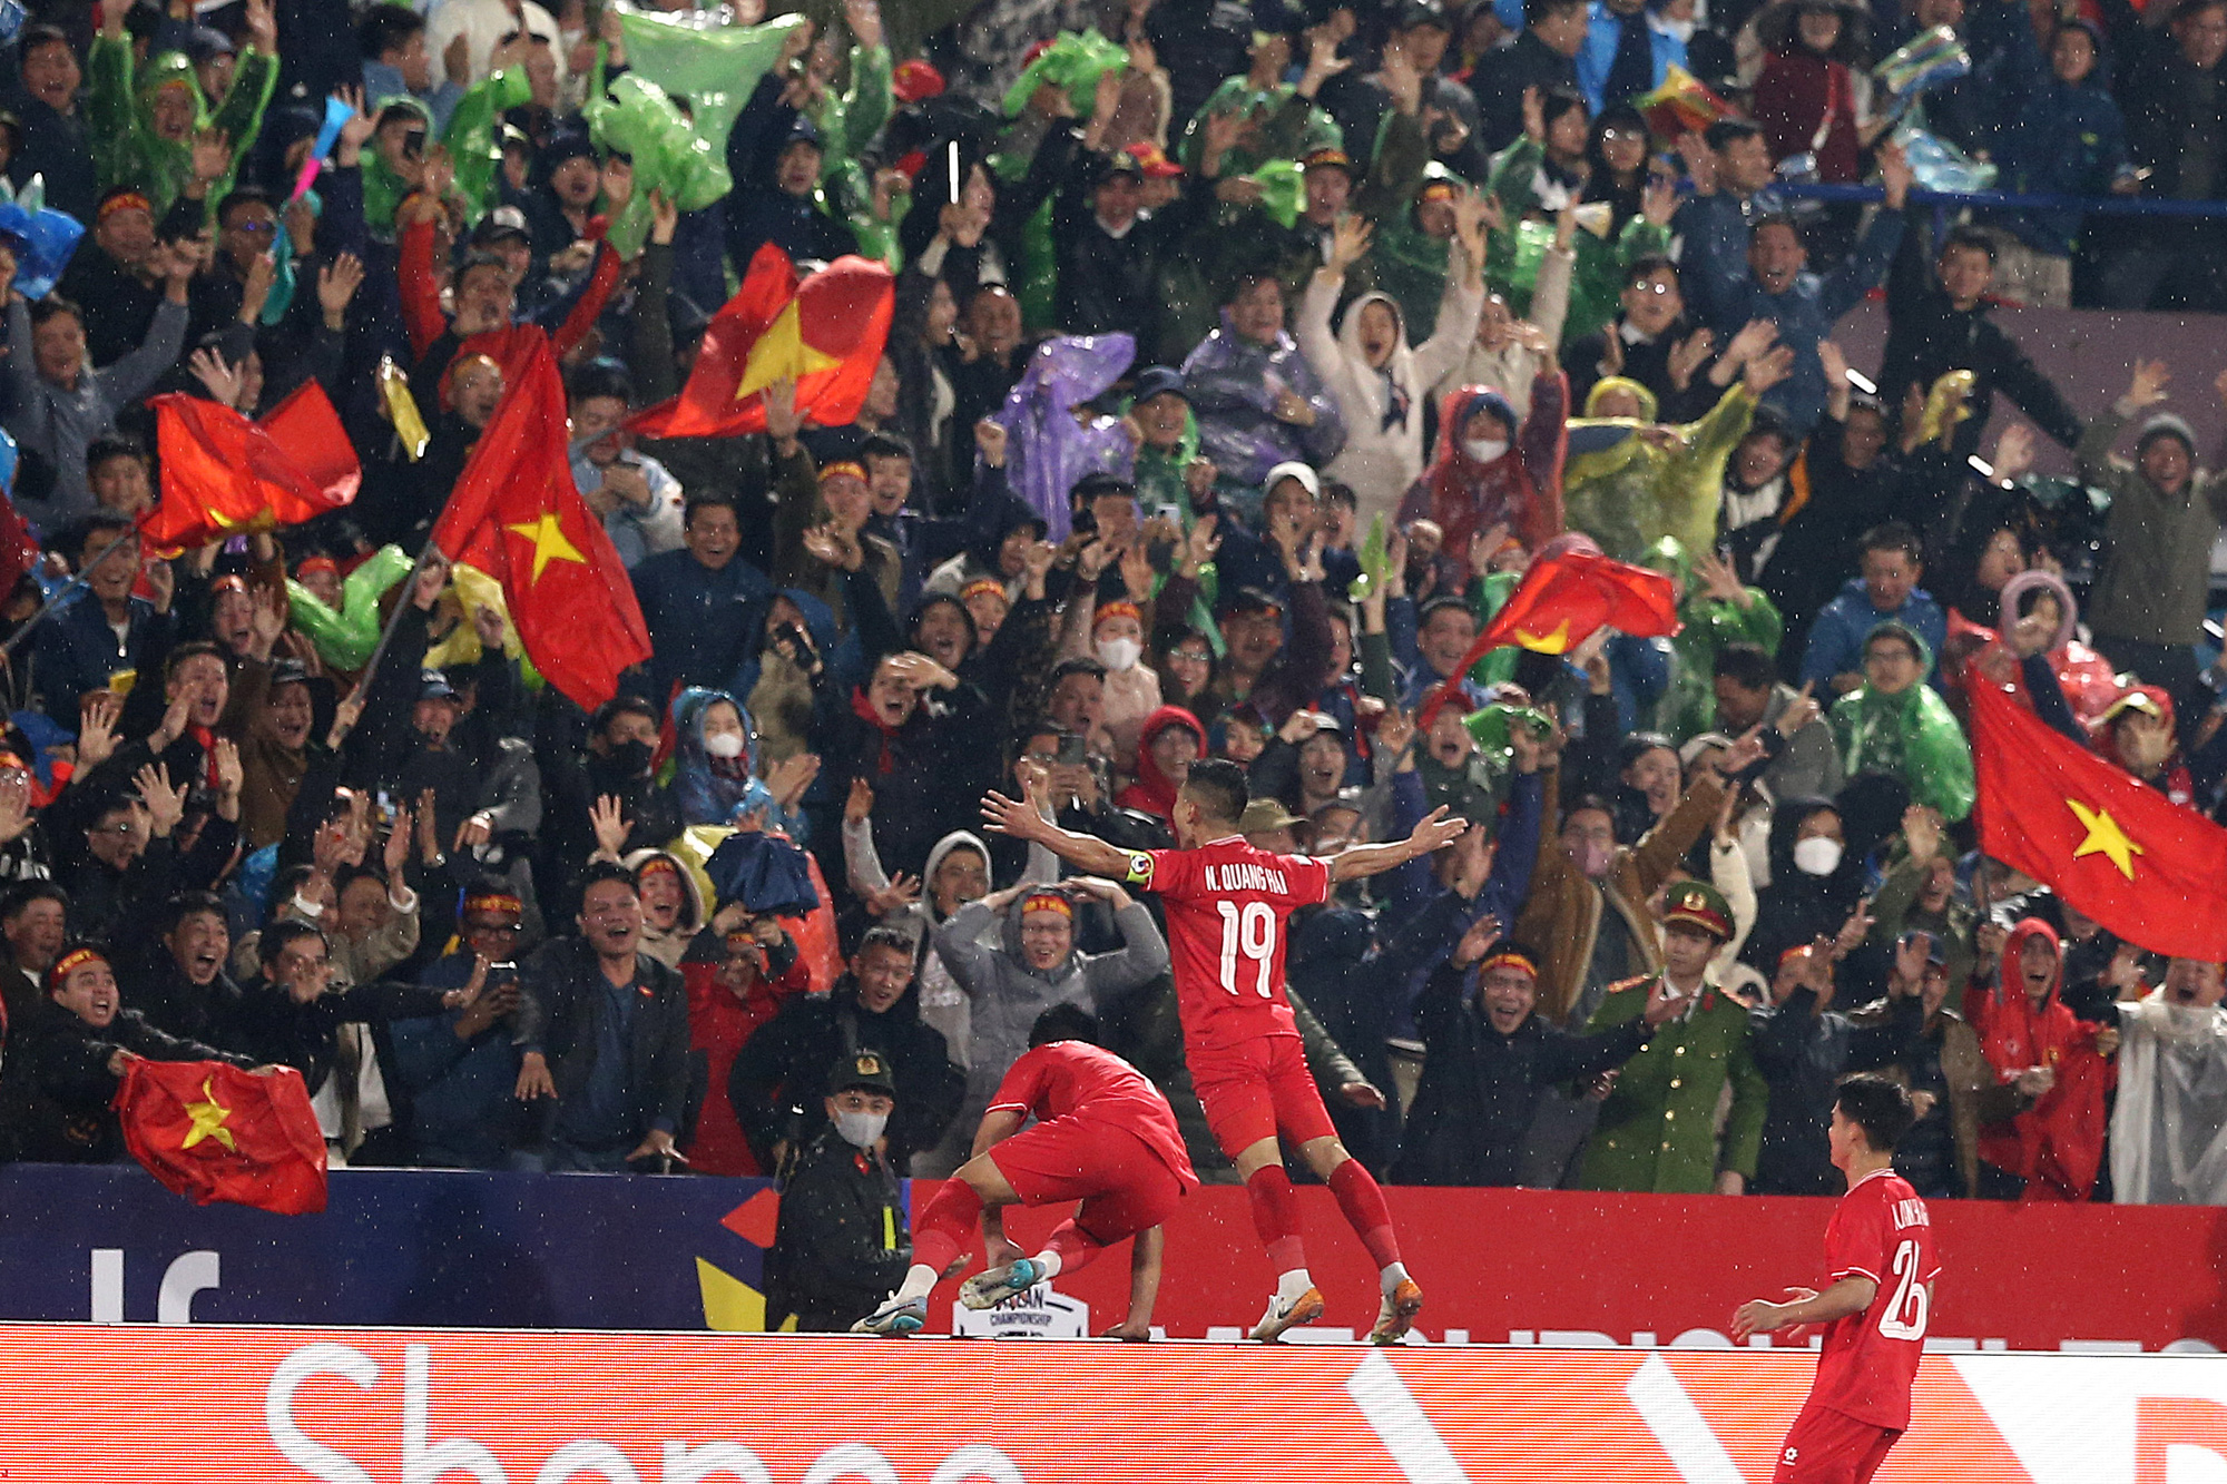
[[[548,336],[539,336],[457,477],[432,539],[450,562],[503,584],[526,657],[595,711],[619,693],[619,671],[650,657],[650,628],[604,521],[572,484],[570,437],[563,379]]]

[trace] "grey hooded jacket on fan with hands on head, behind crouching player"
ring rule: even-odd
[[[953,983],[967,992],[973,1014],[973,1047],[967,1056],[967,1101],[960,1123],[973,1127],[991,1094],[1022,1052],[1029,1049],[1029,1027],[1053,1005],[1080,1005],[1105,1014],[1122,996],[1151,978],[1167,974],[1167,940],[1154,927],[1151,911],[1131,900],[1114,914],[1122,947],[1111,954],[1071,951],[1051,972],[1029,967],[1020,951],[1020,918],[1027,894],[998,911],[984,902],[967,902],[935,929],[935,951],[951,969]],[[982,938],[1000,927],[998,947]]]

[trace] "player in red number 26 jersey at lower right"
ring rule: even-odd
[[[1933,1310],[1933,1221],[1895,1174],[1895,1141],[1915,1123],[1911,1094],[1884,1076],[1851,1076],[1833,1101],[1833,1163],[1848,1177],[1824,1230],[1824,1292],[1750,1299],[1733,1315],[1748,1335],[1822,1324],[1817,1382],[1786,1433],[1773,1484],[1868,1484],[1911,1426],[1911,1382]]]

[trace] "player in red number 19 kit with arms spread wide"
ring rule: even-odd
[[[1252,1337],[1278,1339],[1323,1315],[1323,1295],[1307,1275],[1292,1177],[1276,1145],[1281,1132],[1330,1185],[1376,1261],[1383,1304],[1370,1344],[1394,1344],[1421,1312],[1423,1290],[1401,1263],[1383,1190],[1338,1143],[1323,1094],[1307,1074],[1285,998],[1285,922],[1294,909],[1330,900],[1341,880],[1390,871],[1459,840],[1468,822],[1436,809],[1405,840],[1312,860],[1247,844],[1238,833],[1245,798],[1245,769],[1223,760],[1194,762],[1176,793],[1176,842],[1183,849],[1174,851],[1122,851],[1060,829],[1040,813],[1042,800],[1033,789],[1027,800],[987,795],[982,818],[1016,840],[1042,842],[1093,876],[1160,894],[1176,967],[1183,1058],[1214,1141],[1236,1161],[1252,1197],[1254,1230],[1278,1272],[1276,1295]]]

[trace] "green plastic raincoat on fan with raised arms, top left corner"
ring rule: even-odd
[[[194,62],[183,51],[158,51],[147,58],[145,69],[131,65],[131,42],[111,36],[96,36],[87,58],[94,165],[100,169],[100,187],[131,185],[147,192],[156,221],[169,212],[185,185],[194,178],[194,134],[218,129],[232,140],[232,169],[209,183],[209,212],[214,214],[229,192],[238,163],[249,158],[256,131],[263,127],[263,107],[278,87],[278,58],[263,56],[256,47],[245,47],[232,69],[232,87],[225,100],[209,111],[194,78]],[[194,98],[194,125],[185,138],[163,138],[154,129],[154,96],[165,87],[185,87]]]

